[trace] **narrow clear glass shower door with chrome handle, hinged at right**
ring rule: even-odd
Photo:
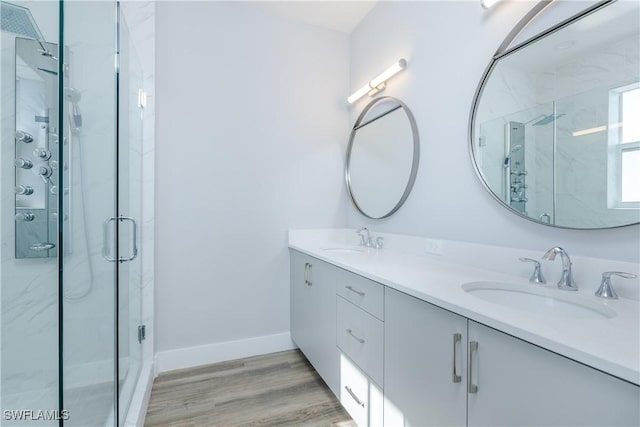
[[[123,425],[142,364],[142,66],[132,46],[126,21],[120,15],[118,121],[119,253],[126,261],[118,272],[119,419]]]

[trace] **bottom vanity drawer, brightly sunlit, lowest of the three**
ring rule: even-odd
[[[384,398],[380,387],[340,354],[340,403],[359,427],[382,427]]]

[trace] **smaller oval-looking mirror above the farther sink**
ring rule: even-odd
[[[418,172],[420,142],[409,108],[388,96],[360,113],[347,148],[351,201],[368,218],[386,218],[409,196]]]

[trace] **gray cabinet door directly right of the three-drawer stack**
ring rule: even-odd
[[[385,426],[465,426],[467,320],[389,288],[384,316]]]

